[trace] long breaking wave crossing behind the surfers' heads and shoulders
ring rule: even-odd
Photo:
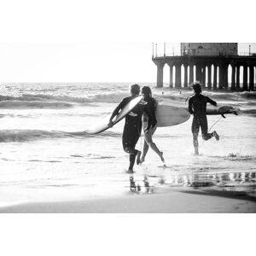
[[[98,90],[96,94],[80,94],[78,96],[73,95],[51,95],[44,93],[30,94],[26,93],[21,96],[3,96],[0,95],[0,108],[72,108],[73,106],[80,104],[91,104],[91,103],[118,103],[126,96],[129,96],[127,90],[117,90],[113,92],[113,89]],[[210,96],[217,102],[229,102],[229,104],[256,104],[256,92],[219,92],[206,90],[204,91],[206,96]],[[188,96],[193,96],[190,90],[173,91],[155,90],[155,96],[159,100],[171,100],[173,102],[185,102]],[[1,102],[2,101],[2,102]],[[24,103],[22,103],[24,102]]]

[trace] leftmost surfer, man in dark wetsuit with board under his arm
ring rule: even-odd
[[[111,118],[109,119],[109,126],[113,126],[113,118],[119,113],[119,111],[125,107],[128,102],[131,102],[135,97],[137,97],[140,93],[140,86],[138,84],[131,85],[131,96],[126,97],[119,103],[119,106],[113,110]],[[147,133],[151,126],[154,126],[155,120],[152,119],[152,115],[149,111],[147,102],[140,102],[137,104],[135,108],[132,109],[130,113],[125,116],[125,126],[123,131],[123,148],[124,151],[130,154],[130,165],[128,168],[128,172],[133,172],[133,166],[135,164],[135,160],[137,158],[137,164],[140,163],[141,151],[137,150],[136,144],[141,136],[142,132],[142,116],[143,113],[148,114],[148,126],[145,128],[145,132]]]

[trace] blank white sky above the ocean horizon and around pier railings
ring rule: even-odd
[[[158,44],[162,51],[163,44]],[[239,44],[248,52],[248,44]],[[256,52],[256,44],[251,44]],[[154,47],[155,49],[155,47]],[[178,43],[166,51],[179,52]],[[0,82],[155,82],[152,43],[0,44]]]

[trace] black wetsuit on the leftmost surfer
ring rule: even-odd
[[[119,106],[114,110],[114,112],[118,113],[119,110],[124,108],[128,102],[131,102],[132,99],[134,99],[134,97],[132,96],[124,98],[122,102],[119,103]],[[137,106],[133,108],[132,111],[125,117],[125,126],[122,142],[125,152],[129,154],[137,154],[137,150],[135,149],[135,147],[142,132],[143,112],[147,113],[148,115],[149,129],[149,127],[154,123],[152,123],[152,115],[148,108],[147,102],[137,104]]]

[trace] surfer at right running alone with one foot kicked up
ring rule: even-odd
[[[195,91],[195,96],[192,96],[189,99],[189,113],[194,115],[192,122],[192,134],[193,134],[193,143],[195,148],[195,154],[198,153],[198,134],[199,128],[201,127],[201,135],[203,140],[207,141],[212,137],[215,137],[216,140],[219,140],[218,133],[213,131],[212,133],[208,133],[208,124],[207,124],[207,102],[212,104],[213,106],[217,106],[217,102],[212,101],[207,96],[203,96],[201,94],[201,84],[199,82],[195,82],[192,84],[192,88]]]

